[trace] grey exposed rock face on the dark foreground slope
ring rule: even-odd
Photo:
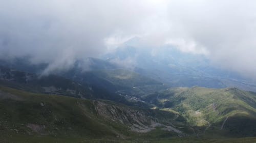
[[[162,127],[163,130],[174,131],[182,134],[182,132],[174,127],[166,126],[155,121],[151,116],[151,112],[147,110],[138,110],[126,108],[118,105],[110,105],[100,101],[95,101],[95,110],[100,116],[112,121],[116,121],[130,127],[132,131],[149,132],[156,127]]]

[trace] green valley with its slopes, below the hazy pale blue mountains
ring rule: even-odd
[[[221,142],[256,135],[253,92],[173,88],[125,69],[72,74],[2,67],[2,139]]]

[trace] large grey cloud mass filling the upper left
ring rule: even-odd
[[[1,58],[29,54],[34,63],[54,65],[58,61],[67,61],[59,59],[97,56],[106,50],[105,38],[120,30],[125,30],[126,35],[139,30],[137,25],[142,17],[151,13],[151,8],[144,7],[144,2],[1,2]],[[70,51],[73,56],[62,51]]]

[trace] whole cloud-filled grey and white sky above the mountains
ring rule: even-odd
[[[256,77],[256,1],[0,0],[0,58],[69,67],[133,37]]]

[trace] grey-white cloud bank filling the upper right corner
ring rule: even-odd
[[[181,27],[178,35],[207,50],[217,66],[256,77],[255,6],[255,1],[179,1],[168,13],[174,27]]]

